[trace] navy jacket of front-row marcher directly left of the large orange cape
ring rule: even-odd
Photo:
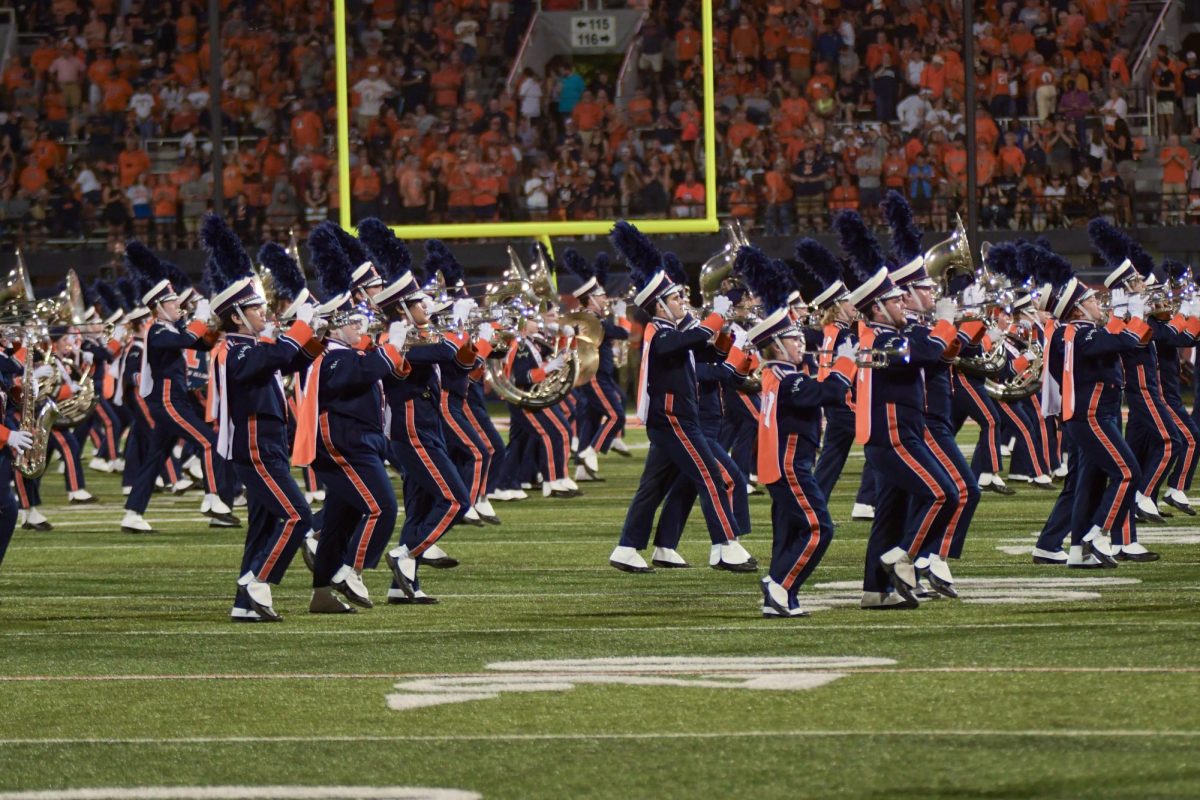
[[[258,439],[287,439],[288,403],[280,375],[290,374],[306,366],[304,347],[312,338],[312,329],[294,323],[275,342],[263,342],[242,333],[226,335],[226,397],[227,414],[233,425],[233,458],[251,462],[250,421],[253,419]]]

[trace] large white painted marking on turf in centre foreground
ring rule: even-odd
[[[890,658],[794,656],[778,658],[629,657],[562,661],[502,661],[497,675],[437,675],[396,684],[388,706],[397,711],[427,705],[496,699],[505,692],[566,692],[582,684],[684,686],[797,692],[824,686],[856,667],[889,667]]]

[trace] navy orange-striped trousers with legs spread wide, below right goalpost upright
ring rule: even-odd
[[[629,505],[620,546],[644,549],[650,541],[654,512],[666,498],[679,475],[696,487],[700,507],[704,512],[708,536],[713,545],[724,545],[737,537],[730,494],[721,481],[721,464],[713,455],[708,438],[692,420],[680,420],[668,414],[667,422],[647,425],[650,440],[637,492]]]

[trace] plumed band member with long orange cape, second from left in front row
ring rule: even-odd
[[[308,236],[326,300],[316,314],[329,320],[325,351],[308,367],[296,420],[293,467],[312,465],[328,487],[324,523],[313,555],[312,614],[372,608],[362,571],[374,569],[396,525],[396,493],[388,477],[383,380],[407,373],[391,343],[356,349],[365,317],[355,306],[349,259],[328,227]],[[403,326],[389,331],[401,341]],[[337,594],[335,594],[337,593]]]

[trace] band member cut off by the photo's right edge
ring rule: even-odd
[[[1176,290],[1183,291],[1192,288],[1192,271],[1187,264],[1166,259],[1163,261],[1163,271],[1169,285]],[[1196,339],[1200,337],[1198,314],[1200,314],[1200,302],[1196,301],[1194,293],[1189,293],[1170,321],[1151,320],[1151,325],[1156,329],[1165,326],[1171,333],[1171,336],[1159,337],[1159,341],[1156,342],[1158,378],[1166,411],[1183,443],[1182,452],[1175,459],[1171,474],[1166,479],[1163,503],[1189,517],[1195,516],[1195,510],[1192,507],[1187,493],[1192,488],[1192,479],[1196,471],[1196,443],[1200,443],[1200,427],[1183,407],[1183,396],[1180,392],[1180,348],[1195,347]]]

